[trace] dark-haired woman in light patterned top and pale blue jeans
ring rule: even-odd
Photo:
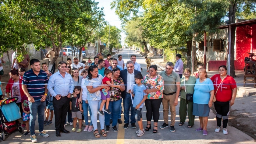
[[[96,65],[91,65],[88,69],[88,76],[85,79],[85,85],[88,90],[87,100],[89,106],[91,107],[91,121],[94,128],[94,136],[96,138],[100,137],[97,126],[98,109],[100,108],[102,102],[100,90],[101,88],[105,89],[105,91],[109,90],[108,86],[101,85],[102,79],[103,77],[100,74],[98,74],[98,67]],[[105,116],[99,114],[99,121],[101,125],[101,135],[105,137],[107,136],[107,133],[104,130]]]

